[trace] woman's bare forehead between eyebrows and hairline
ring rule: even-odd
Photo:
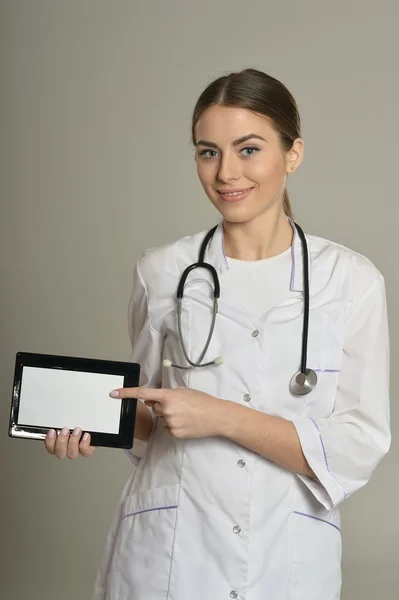
[[[196,140],[208,142],[229,143],[249,133],[257,133],[266,139],[277,137],[267,117],[246,108],[211,106],[195,126]]]

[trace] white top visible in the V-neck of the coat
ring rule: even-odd
[[[223,284],[259,318],[290,297],[291,250],[263,260],[226,257]]]

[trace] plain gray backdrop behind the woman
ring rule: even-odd
[[[394,0],[1,2],[1,598],[90,598],[131,466],[10,440],[14,357],[129,356],[135,260],[218,219],[189,143],[215,77],[253,66],[297,98],[296,219],[385,275],[397,389],[398,18]],[[343,507],[344,600],[396,597],[398,459],[394,437]]]

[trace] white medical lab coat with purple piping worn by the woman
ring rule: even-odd
[[[291,473],[230,439],[181,440],[154,417],[108,536],[94,600],[338,600],[339,504],[364,486],[390,446],[384,280],[363,256],[307,236],[308,367],[318,385],[294,397],[303,318],[302,249],[292,246],[290,298],[259,319],[223,283],[221,224],[205,259],[221,285],[205,358],[224,364],[181,371],[176,290],[206,232],[147,251],[134,272],[132,360],[141,385],[187,386],[291,420],[318,481]],[[206,341],[212,306],[207,271],[185,287],[190,357]],[[259,335],[252,333],[258,330]]]

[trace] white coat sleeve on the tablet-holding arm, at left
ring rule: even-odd
[[[140,272],[140,261],[133,272],[133,288],[129,301],[128,328],[132,344],[131,362],[140,364],[140,386],[161,387],[163,336],[150,321],[148,293]],[[151,412],[152,414],[152,412]],[[153,421],[155,416],[152,414]],[[147,442],[135,438],[133,448],[127,450],[132,462],[137,465],[143,456]]]

